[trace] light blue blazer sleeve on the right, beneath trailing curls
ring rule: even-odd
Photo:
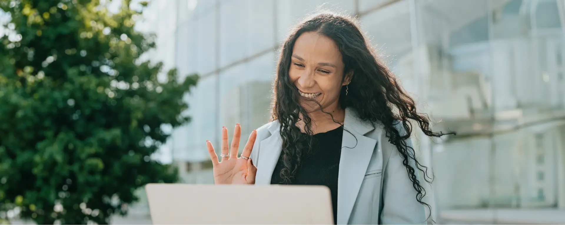
[[[406,144],[412,146],[410,139],[406,140]],[[396,146],[390,142],[384,141],[383,145],[383,150],[388,151],[390,157],[383,174],[381,224],[426,224],[425,206],[416,201],[417,192],[408,178],[401,155]],[[415,162],[410,161],[410,165],[415,167]],[[418,170],[416,170],[416,177],[418,177]]]

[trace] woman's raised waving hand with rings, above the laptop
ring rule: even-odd
[[[240,145],[241,126],[236,125],[233,132],[232,146],[228,146],[228,129],[221,128],[221,162],[218,155],[214,151],[214,146],[210,141],[206,141],[210,159],[214,166],[214,183],[215,184],[255,184],[255,174],[257,167],[253,165],[249,156],[257,137],[257,131],[251,132],[247,144],[245,144],[244,152],[241,157],[237,157]]]

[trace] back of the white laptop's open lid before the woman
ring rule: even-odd
[[[147,184],[153,225],[332,225],[325,186]]]

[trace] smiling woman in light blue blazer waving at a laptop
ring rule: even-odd
[[[425,196],[410,141],[427,116],[376,59],[353,20],[318,14],[282,46],[272,122],[253,131],[237,157],[221,130],[221,162],[207,141],[216,184],[317,184],[329,187],[334,220],[345,224],[425,224]],[[424,180],[429,181],[427,176]]]

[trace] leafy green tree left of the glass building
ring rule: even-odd
[[[40,225],[107,224],[136,189],[177,179],[150,155],[189,121],[182,97],[198,77],[142,62],[154,36],[133,27],[147,3],[100,4],[0,0],[11,19],[0,37],[4,219],[16,209]]]

